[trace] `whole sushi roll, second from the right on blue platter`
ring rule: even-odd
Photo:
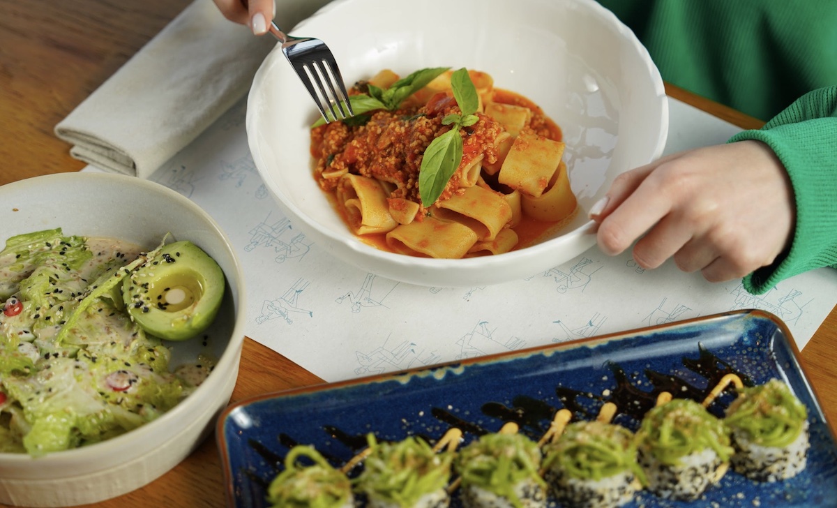
[[[723,420],[682,398],[646,413],[636,439],[649,490],[670,500],[698,499],[721,480],[734,451]]]

